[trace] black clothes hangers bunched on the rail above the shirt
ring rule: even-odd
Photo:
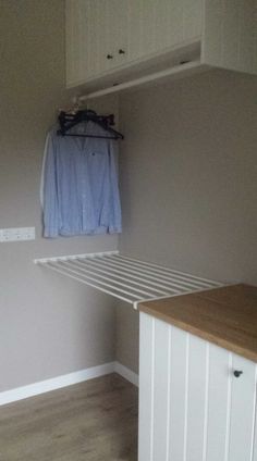
[[[58,135],[60,136],[74,136],[83,138],[102,138],[102,139],[124,139],[124,136],[111,128],[110,125],[114,125],[114,115],[98,115],[95,111],[91,110],[79,110],[76,113],[68,113],[61,111],[59,114],[60,129],[58,129]],[[76,134],[69,133],[73,126],[78,125],[82,122],[94,122],[106,132],[110,133],[110,136],[105,135],[87,135],[87,134]]]

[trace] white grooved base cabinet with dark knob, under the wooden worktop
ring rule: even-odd
[[[256,371],[140,312],[138,461],[257,461]]]

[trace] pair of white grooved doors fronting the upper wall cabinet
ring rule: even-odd
[[[66,83],[199,39],[200,0],[66,0]]]

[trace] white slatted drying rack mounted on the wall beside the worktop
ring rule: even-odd
[[[118,251],[36,259],[34,262],[126,301],[135,309],[142,301],[221,286],[218,282],[128,258]]]

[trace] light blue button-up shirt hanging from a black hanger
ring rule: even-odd
[[[69,133],[105,135],[93,122]],[[42,176],[44,236],[121,233],[121,205],[114,140],[47,138]]]

